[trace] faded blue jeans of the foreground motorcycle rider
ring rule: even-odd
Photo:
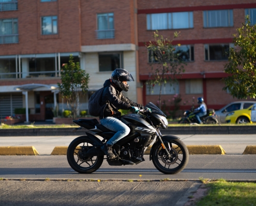
[[[100,123],[104,127],[116,132],[107,142],[108,145],[113,146],[118,140],[121,140],[130,133],[130,128],[126,124],[122,123],[118,118],[108,116],[100,119]]]

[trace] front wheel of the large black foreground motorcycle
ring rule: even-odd
[[[174,175],[180,173],[187,166],[189,153],[187,146],[181,140],[171,140],[169,144],[171,150],[169,145],[165,145],[165,147],[168,148],[169,152],[171,151],[171,160],[164,155],[165,150],[162,148],[162,145],[157,145],[153,148],[152,161],[161,173]]]

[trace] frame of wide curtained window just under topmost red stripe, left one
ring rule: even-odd
[[[173,28],[173,13],[188,13],[188,27],[181,27],[181,28]],[[167,16],[167,28],[159,29],[159,28],[152,28],[152,14],[166,14]],[[171,16],[169,18],[169,16]],[[171,23],[169,22],[169,19],[171,19]],[[148,22],[149,21],[149,22]],[[148,25],[150,24],[150,28],[148,28]],[[171,25],[171,26],[170,26]],[[147,30],[171,30],[171,29],[192,29],[194,28],[194,13],[193,11],[182,11],[182,12],[169,12],[169,13],[148,13],[146,15],[146,27]]]

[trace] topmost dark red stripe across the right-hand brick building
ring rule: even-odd
[[[256,4],[253,3],[253,4],[228,4],[228,5],[194,6],[194,7],[172,7],[172,8],[159,8],[159,9],[138,9],[138,14],[201,11],[201,10],[241,9],[241,8],[255,8],[255,7],[256,7]]]

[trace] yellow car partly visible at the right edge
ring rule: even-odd
[[[231,123],[231,124],[252,123],[251,108],[252,106],[248,107],[247,109],[229,112],[225,118],[226,123]]]

